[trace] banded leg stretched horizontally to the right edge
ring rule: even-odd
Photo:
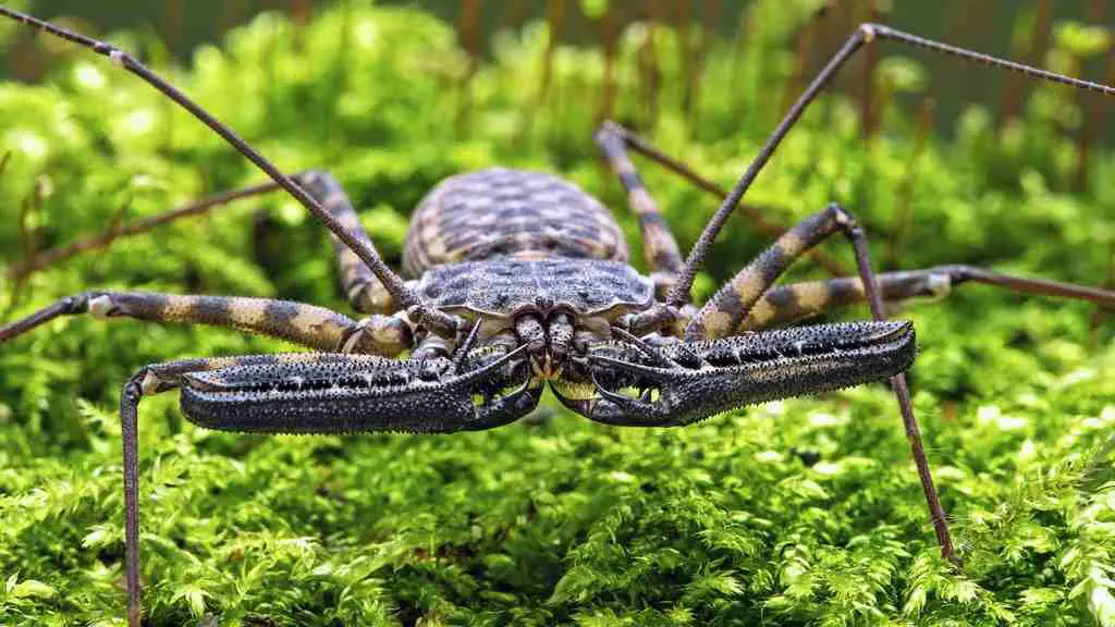
[[[911,298],[944,298],[953,286],[970,281],[1040,296],[1087,300],[1101,307],[1115,306],[1113,291],[1059,281],[1014,277],[971,266],[940,266],[928,270],[885,272],[875,278],[886,302]],[[863,281],[856,278],[774,287],[752,307],[735,334],[789,325],[831,309],[864,302],[866,298]]]

